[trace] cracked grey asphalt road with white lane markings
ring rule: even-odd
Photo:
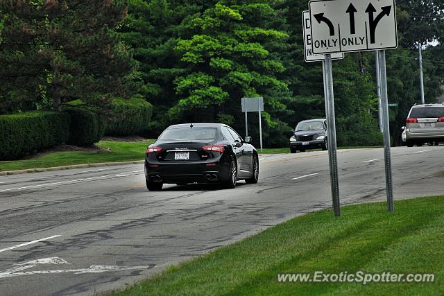
[[[384,151],[339,150],[341,204],[385,199]],[[444,194],[444,147],[393,148],[395,199]],[[258,184],[166,185],[143,165],[0,177],[0,294],[92,295],[331,207],[326,152],[260,158]],[[333,214],[332,214],[333,216]]]

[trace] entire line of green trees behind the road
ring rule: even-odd
[[[153,106],[157,137],[172,123],[244,130],[243,96],[263,96],[264,142],[286,146],[298,121],[324,117],[320,63],[303,57],[298,0],[0,0],[0,112],[62,110],[71,101],[113,113],[113,98]],[[420,101],[419,44],[440,42],[444,1],[397,1],[400,47],[387,52],[393,141]],[[441,94],[444,53],[425,49],[428,102]],[[339,145],[381,143],[374,53],[334,62]],[[257,116],[249,130],[257,136]],[[255,134],[256,132],[256,134]]]

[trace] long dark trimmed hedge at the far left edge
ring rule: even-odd
[[[34,153],[66,143],[69,115],[60,112],[25,112],[0,116],[0,160]]]

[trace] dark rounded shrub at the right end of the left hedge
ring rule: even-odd
[[[99,142],[105,132],[105,125],[100,116],[87,109],[69,107],[64,110],[69,114],[69,139],[67,143],[74,146],[89,146]]]

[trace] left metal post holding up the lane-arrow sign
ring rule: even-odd
[[[327,145],[328,157],[330,159],[330,184],[332,186],[332,200],[334,216],[341,216],[341,204],[339,202],[339,173],[338,159],[336,155],[336,123],[334,119],[334,92],[333,92],[333,71],[332,57],[325,55],[324,69],[324,88],[326,92],[325,114],[327,115]]]

